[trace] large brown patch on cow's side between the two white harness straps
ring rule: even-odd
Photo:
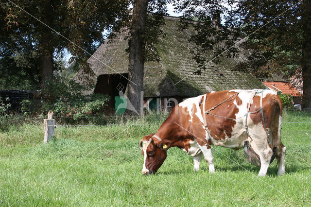
[[[234,95],[236,92],[228,90],[220,91],[217,93],[207,93],[207,101],[205,103],[204,111],[222,103],[225,99]],[[225,139],[226,137],[232,137],[232,130],[234,125],[236,124],[236,114],[239,112],[238,107],[234,104],[234,101],[237,102],[238,105],[242,104],[242,100],[238,97],[238,94],[232,96],[232,98],[225,101],[223,104],[218,105],[215,109],[210,110],[210,114],[206,114],[207,127],[210,131],[212,138],[215,140]],[[203,104],[201,105],[201,109],[203,111]],[[217,116],[213,116],[213,115]],[[223,118],[225,117],[225,118]],[[231,119],[226,119],[231,118]]]

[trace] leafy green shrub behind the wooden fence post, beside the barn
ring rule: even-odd
[[[44,113],[53,111],[55,116],[87,117],[103,115],[104,108],[109,101],[108,95],[90,94],[84,95],[84,91],[90,90],[91,85],[80,85],[72,80],[65,83],[60,77],[55,77],[53,81],[47,81],[43,88],[42,96],[44,102],[42,108],[29,112],[30,101],[23,102],[23,113]]]

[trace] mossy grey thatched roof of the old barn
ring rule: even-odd
[[[242,61],[241,58],[222,57],[219,64],[208,64],[207,69],[200,75],[192,74],[199,68],[192,58],[193,44],[189,42],[194,30],[191,27],[186,31],[178,30],[178,17],[165,17],[165,23],[163,26],[165,35],[160,37],[156,45],[160,62],[146,62],[144,65],[145,97],[155,97],[157,92],[160,92],[160,96],[192,97],[211,90],[264,88],[254,76],[231,71]],[[124,40],[125,35],[121,33],[114,41],[106,41],[87,60],[95,73],[93,80],[102,74],[127,73],[128,55],[125,49],[128,42]],[[210,59],[211,57],[207,58],[207,61]],[[83,73],[79,71],[74,79],[78,80],[81,75]],[[190,76],[187,77],[188,75]],[[180,80],[182,81],[174,86]]]

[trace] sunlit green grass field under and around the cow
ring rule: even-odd
[[[222,147],[213,147],[214,174],[204,160],[192,172],[192,157],[171,148],[158,173],[142,175],[138,141],[163,119],[58,127],[48,144],[39,123],[0,130],[0,206],[311,206],[311,124],[290,123],[310,114],[284,113],[286,174],[274,161],[260,178],[242,150]]]

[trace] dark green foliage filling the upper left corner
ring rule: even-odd
[[[0,86],[42,85],[45,77],[40,75],[46,66],[40,59],[45,54],[62,56],[65,49],[73,55],[72,61],[87,67],[86,59],[104,42],[102,32],[118,31],[128,19],[129,4],[129,0],[1,1]]]

